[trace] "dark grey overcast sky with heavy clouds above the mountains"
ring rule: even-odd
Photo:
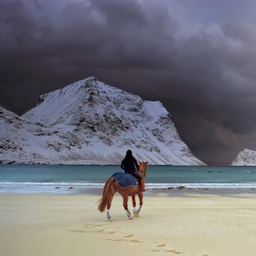
[[[94,76],[159,100],[209,165],[256,150],[256,2],[0,0],[0,106]]]

